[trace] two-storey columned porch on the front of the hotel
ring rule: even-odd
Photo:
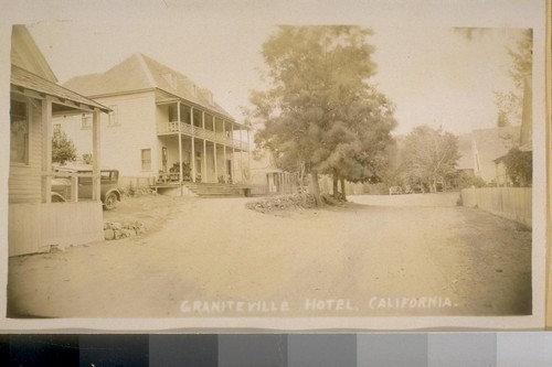
[[[246,183],[248,128],[180,100],[162,100],[157,106],[157,185]]]

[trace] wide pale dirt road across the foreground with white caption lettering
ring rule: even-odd
[[[344,208],[276,214],[246,209],[251,198],[161,198],[160,208],[138,212],[153,229],[147,235],[11,258],[9,310],[44,317],[531,311],[530,231],[456,206],[452,194],[351,198]]]

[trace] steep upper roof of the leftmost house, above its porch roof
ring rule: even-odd
[[[11,64],[52,83],[57,83],[54,72],[24,25],[13,25],[11,32]]]

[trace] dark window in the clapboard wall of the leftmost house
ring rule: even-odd
[[[10,105],[10,162],[29,163],[29,111],[24,101]]]

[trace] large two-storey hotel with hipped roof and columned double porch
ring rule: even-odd
[[[102,120],[102,156],[118,169],[121,182],[148,186],[158,182],[244,182],[248,129],[183,74],[140,53],[102,74],[65,83],[112,109]],[[78,120],[78,121],[75,121]],[[81,156],[89,116],[57,119]],[[245,154],[244,154],[245,153]]]

